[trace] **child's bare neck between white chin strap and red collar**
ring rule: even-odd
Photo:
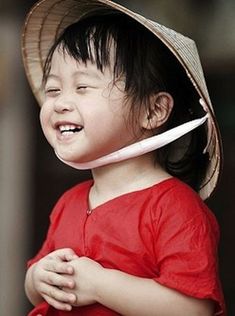
[[[153,163],[152,154],[94,169],[92,175],[94,185],[89,194],[91,209],[171,177],[158,164]]]

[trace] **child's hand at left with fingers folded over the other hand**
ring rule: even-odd
[[[43,300],[60,310],[71,310],[75,301],[73,294],[64,293],[60,287],[74,287],[74,281],[68,279],[73,267],[68,264],[74,252],[71,249],[59,249],[34,263],[27,271],[25,292],[30,302],[37,305]],[[51,295],[53,293],[53,296]]]

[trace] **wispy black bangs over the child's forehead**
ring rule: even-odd
[[[86,64],[90,61],[101,72],[112,65],[114,80],[119,77],[123,73],[123,63],[116,48],[118,34],[111,21],[107,21],[109,18],[111,20],[109,16],[106,19],[102,19],[102,15],[90,16],[66,28],[49,51],[44,64],[43,83],[50,73],[51,60],[56,49],[78,62]]]

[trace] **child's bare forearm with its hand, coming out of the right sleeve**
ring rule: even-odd
[[[154,280],[105,269],[85,257],[75,259],[71,264],[76,287],[68,291],[76,295],[78,306],[94,300],[128,316],[213,315],[211,301],[183,295]]]

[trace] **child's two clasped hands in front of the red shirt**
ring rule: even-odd
[[[96,302],[94,281],[101,269],[100,264],[78,257],[72,249],[59,249],[32,266],[32,281],[48,304],[69,311],[72,306]]]

